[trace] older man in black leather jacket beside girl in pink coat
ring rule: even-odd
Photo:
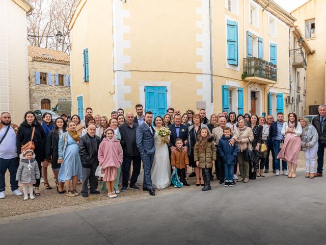
[[[87,134],[79,140],[79,156],[83,165],[82,195],[88,197],[88,183],[90,184],[90,194],[99,194],[97,189],[97,177],[95,176],[98,166],[97,152],[100,145],[100,137],[95,135],[95,125],[89,125]]]

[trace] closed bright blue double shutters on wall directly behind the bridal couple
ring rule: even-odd
[[[167,87],[145,86],[145,111],[163,117],[167,112]]]

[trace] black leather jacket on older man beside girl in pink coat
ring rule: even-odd
[[[100,145],[100,137],[95,135],[91,137],[88,133],[79,140],[79,156],[82,165],[85,168],[94,168],[98,165],[98,146]]]

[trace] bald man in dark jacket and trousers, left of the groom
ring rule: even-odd
[[[136,185],[137,177],[141,172],[141,156],[136,145],[137,127],[138,124],[134,122],[133,113],[127,112],[126,121],[119,127],[121,146],[123,150],[121,191],[125,191],[128,188],[131,161],[132,174],[129,186],[131,189],[140,190],[140,188]]]

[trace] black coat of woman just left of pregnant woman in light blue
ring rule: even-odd
[[[64,129],[63,132],[66,132]],[[51,160],[52,168],[59,168],[53,167],[58,166],[58,145],[59,145],[59,133],[57,130],[51,130],[46,137],[46,144],[45,144],[45,160]]]

